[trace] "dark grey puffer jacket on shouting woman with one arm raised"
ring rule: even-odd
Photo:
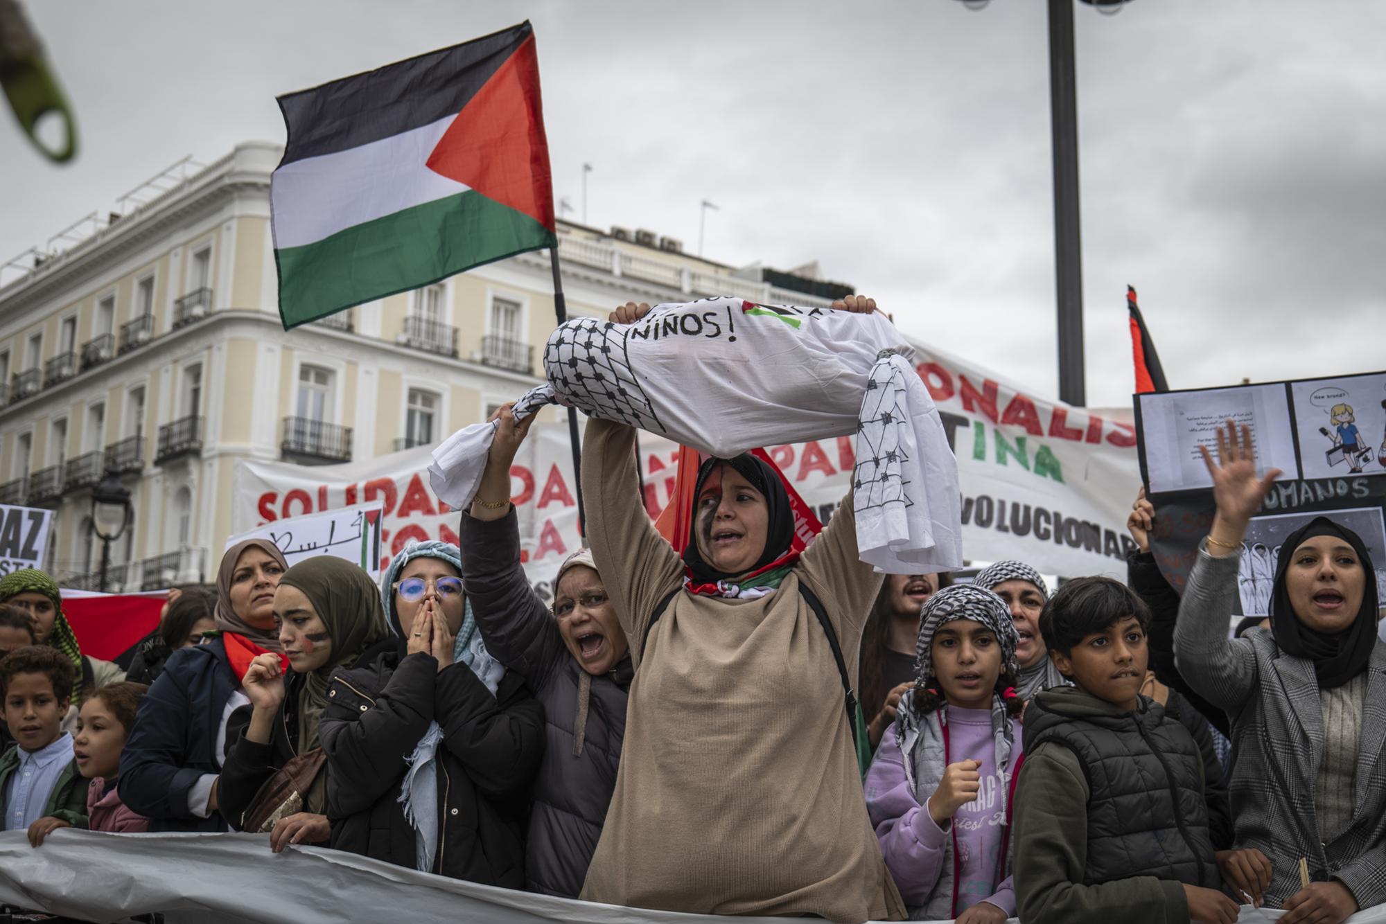
[[[543,704],[543,762],[534,787],[525,848],[531,892],[577,898],[602,837],[625,737],[625,701],[633,669],[626,655],[593,677],[572,659],[553,614],[520,567],[516,511],[489,522],[463,513],[457,529],[463,582],[486,651],[521,675]],[[578,741],[579,691],[586,695]]]

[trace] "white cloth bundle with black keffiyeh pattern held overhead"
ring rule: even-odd
[[[758,446],[857,435],[857,540],[879,571],[962,567],[958,464],[912,350],[883,314],[739,298],[657,305],[635,324],[584,317],[543,350],[547,378],[516,405],[624,421],[728,459]],[[434,450],[434,493],[466,508],[493,424]]]

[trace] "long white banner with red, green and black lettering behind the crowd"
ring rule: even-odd
[[[1130,411],[1094,411],[1033,398],[1017,385],[915,345],[916,370],[938,405],[958,456],[963,554],[1019,558],[1044,574],[1125,574],[1125,515],[1141,483]],[[678,447],[640,432],[644,506],[674,492]],[[851,436],[769,446],[804,500],[826,521],[847,493]],[[383,504],[381,557],[410,539],[457,542],[457,513],[428,486],[431,446],[342,465],[238,461],[231,528],[359,503]],[[541,593],[581,546],[572,453],[564,424],[538,423],[510,470],[523,560]]]

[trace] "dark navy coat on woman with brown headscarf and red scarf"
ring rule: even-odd
[[[188,791],[219,773],[216,736],[226,702],[240,687],[220,639],[175,651],[140,700],[134,727],[121,752],[121,801],[150,820],[150,831],[225,831],[216,812],[200,819]],[[226,741],[240,737],[249,711],[237,709]],[[227,749],[230,749],[227,747]]]

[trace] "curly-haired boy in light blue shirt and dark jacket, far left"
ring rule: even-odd
[[[54,827],[87,826],[87,781],[61,729],[76,669],[57,648],[17,648],[0,661],[4,718],[14,747],[0,756],[4,830],[28,830],[37,846]]]

